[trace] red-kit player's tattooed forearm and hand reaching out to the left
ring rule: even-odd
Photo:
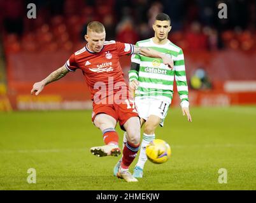
[[[36,92],[35,93],[36,96],[39,95],[39,93],[41,93],[41,91],[46,86],[46,84],[59,80],[60,78],[68,74],[68,72],[69,70],[66,69],[65,65],[53,71],[50,75],[48,75],[45,79],[43,79],[43,81],[34,83],[33,88],[31,89],[31,95],[33,95],[34,92]]]

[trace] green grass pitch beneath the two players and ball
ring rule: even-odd
[[[156,137],[171,145],[171,159],[147,162],[138,183],[113,176],[120,157],[90,154],[90,147],[103,145],[90,110],[1,113],[0,190],[255,190],[256,108],[190,112],[192,123],[180,108],[169,110]],[[36,184],[27,183],[31,167]],[[220,168],[227,169],[227,184],[218,183]]]

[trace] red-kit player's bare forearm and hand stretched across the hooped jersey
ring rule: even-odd
[[[165,65],[168,65],[170,69],[173,69],[173,59],[171,55],[155,51],[154,49],[139,47],[134,45],[134,54],[141,54],[143,56],[152,57],[152,58],[162,58],[162,62]]]

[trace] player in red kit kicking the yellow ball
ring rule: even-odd
[[[170,56],[153,49],[105,41],[105,37],[104,25],[96,21],[90,22],[87,25],[85,47],[71,55],[62,67],[43,81],[34,83],[31,94],[35,92],[35,95],[38,95],[46,84],[57,81],[68,72],[81,69],[93,101],[92,122],[103,132],[103,140],[106,144],[92,147],[90,152],[99,157],[121,154],[118,134],[115,131],[115,126],[119,122],[121,128],[127,132],[127,144],[123,150],[122,163],[117,176],[128,182],[138,181],[132,177],[128,169],[139,150],[140,123],[132,96],[129,96],[129,88],[125,84],[119,58],[132,53],[162,58],[170,68],[173,67],[173,60]]]

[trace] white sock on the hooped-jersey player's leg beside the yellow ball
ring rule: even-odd
[[[143,139],[141,142],[141,151],[139,152],[139,160],[136,166],[139,166],[143,169],[146,163],[146,160],[148,160],[148,158],[146,157],[146,145],[148,145],[150,141],[153,141],[153,140],[155,140],[155,134],[143,133]]]

